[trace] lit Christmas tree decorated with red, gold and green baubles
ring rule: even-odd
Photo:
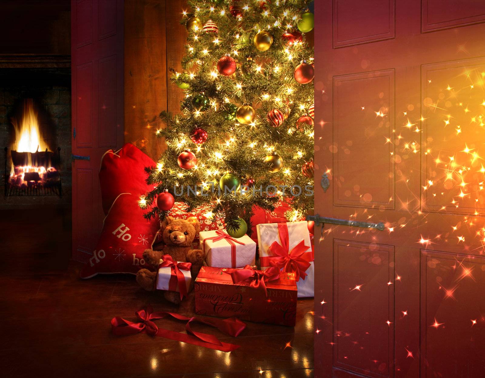
[[[147,168],[147,218],[177,201],[210,204],[229,234],[250,232],[254,206],[313,209],[313,29],[308,0],[189,0],[181,113],[162,112],[167,149]],[[159,200],[157,201],[157,198]],[[156,203],[158,207],[155,206]]]

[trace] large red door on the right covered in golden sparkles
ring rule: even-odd
[[[315,11],[317,376],[483,377],[485,2]]]

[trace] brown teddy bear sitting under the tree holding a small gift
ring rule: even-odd
[[[194,216],[187,219],[178,219],[167,216],[160,225],[159,233],[162,234],[164,243],[163,250],[154,251],[146,249],[143,252],[145,262],[157,269],[163,255],[170,255],[174,261],[192,263],[192,283],[188,292],[194,287],[194,279],[199,273],[200,267],[204,264],[204,252],[201,249],[193,249],[192,242],[199,234],[200,222]],[[154,291],[157,281],[157,272],[148,269],[140,269],[136,274],[136,281],[147,291]],[[180,294],[178,292],[163,291],[163,296],[168,301],[179,304]]]

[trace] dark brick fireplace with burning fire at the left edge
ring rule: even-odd
[[[0,208],[71,201],[70,59],[0,56]]]

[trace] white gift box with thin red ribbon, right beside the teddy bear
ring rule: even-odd
[[[247,235],[236,239],[226,230],[201,231],[199,240],[209,266],[242,268],[255,263],[256,243]]]

